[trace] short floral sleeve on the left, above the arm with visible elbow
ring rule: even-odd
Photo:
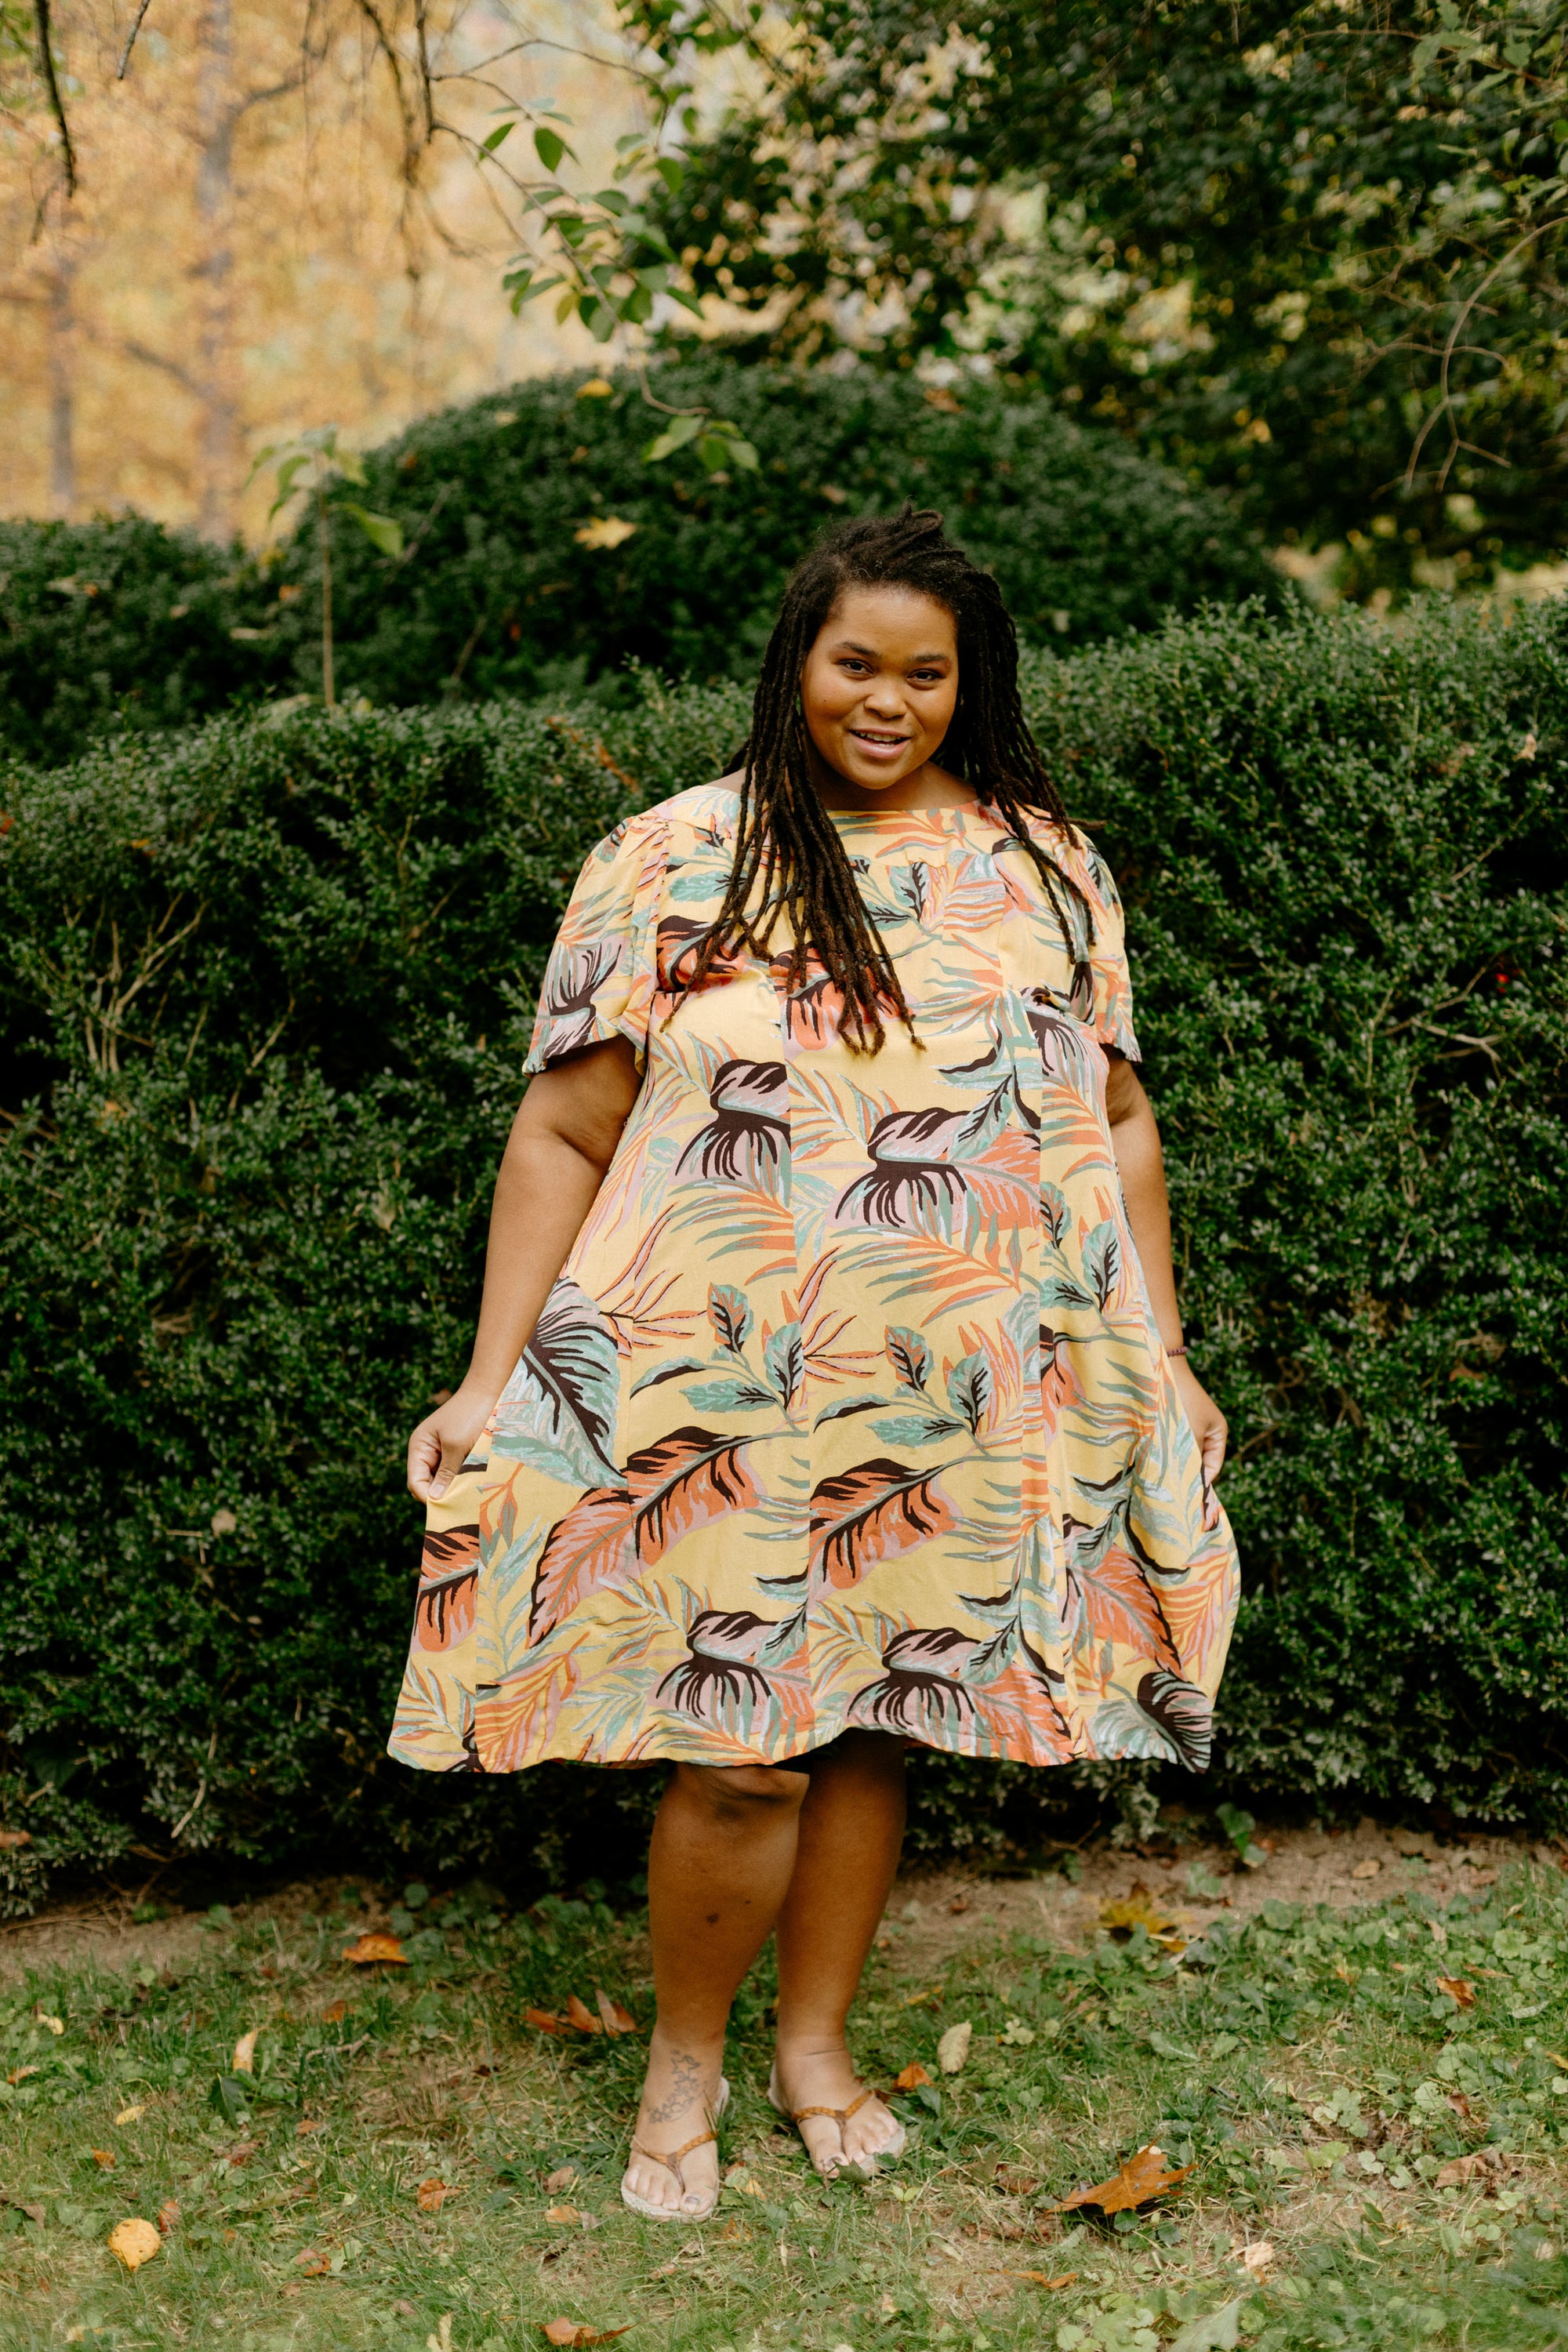
[[[590,851],[545,964],[524,1073],[625,1037],[642,1068],[654,1011],[658,906],[670,826],[628,816]]]

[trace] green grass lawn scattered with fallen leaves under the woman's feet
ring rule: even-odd
[[[853,2042],[879,2084],[933,2077],[898,2100],[905,2161],[825,2190],[776,2129],[764,1964],[703,2230],[618,2201],[639,2039],[524,2023],[602,1987],[646,2025],[635,1907],[409,1889],[388,1919],[336,1882],[306,1912],[219,1907],[162,1969],[0,1990],[0,2343],[510,2352],[574,2321],[625,2352],[1568,2345],[1568,1877],[1519,1863],[1448,1905],[1406,1877],[1185,1950],[1159,1905],[1065,1929],[1041,1879],[1039,1933],[917,1976],[900,1889]],[[409,1966],[346,1964],[371,1926]],[[1147,2143],[1190,2166],[1159,2204],[1056,2211]],[[160,2209],[132,2274],[106,2239]]]

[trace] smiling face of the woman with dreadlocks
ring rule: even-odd
[[[912,588],[846,588],[799,680],[818,755],[863,793],[933,760],[959,699],[952,614]]]

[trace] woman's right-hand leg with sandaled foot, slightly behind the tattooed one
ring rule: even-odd
[[[849,2107],[858,2098],[844,2020],[898,1870],[905,1816],[903,1740],[846,1731],[811,1759],[795,1875],[778,1912],[778,2091],[788,2107]],[[879,2098],[844,2126],[851,2161],[896,2133]],[[806,2117],[813,2161],[839,2152],[832,2117]]]

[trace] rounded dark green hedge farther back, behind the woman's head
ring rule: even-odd
[[[1041,642],[1281,595],[1222,499],[1041,400],[976,388],[947,414],[912,379],[870,372],[658,369],[661,400],[712,402],[752,435],[757,473],[719,480],[691,449],[646,466],[661,416],[639,383],[578,397],[585,381],[512,386],[369,456],[355,496],[400,520],[404,557],[331,515],[343,696],[581,694],[628,659],[750,675],[792,555],[835,515],[907,494],[947,508]],[[637,529],[585,548],[574,534],[595,515]],[[0,746],[40,764],[96,736],[320,691],[315,522],[275,567],[139,517],[0,524]]]

